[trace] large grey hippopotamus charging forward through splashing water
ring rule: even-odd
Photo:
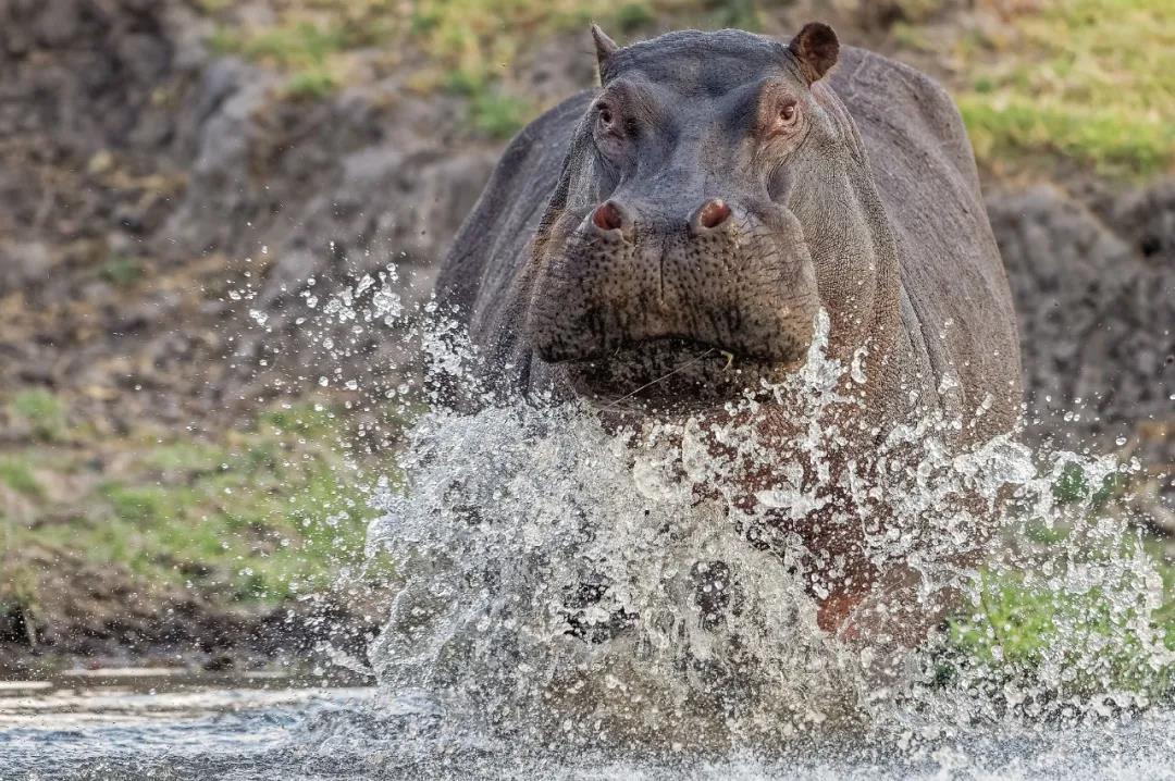
[[[1014,429],[1012,295],[942,87],[820,22],[592,36],[599,86],[513,139],[439,271],[494,388],[718,408],[803,365],[822,310],[861,451],[912,415]],[[821,626],[871,586],[821,594]]]

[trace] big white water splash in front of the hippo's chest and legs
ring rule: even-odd
[[[434,386],[483,393],[461,330],[435,308],[425,323]],[[793,376],[706,416],[435,405],[369,531],[402,579],[370,654],[382,685],[536,745],[780,750],[853,727],[911,756],[1164,696],[1161,572],[1099,487],[1137,464],[1007,436],[959,447],[972,420],[935,416],[854,452],[838,420],[864,376],[826,355],[827,329]],[[764,403],[804,425],[771,431]],[[854,530],[891,588],[860,637],[818,625],[813,597],[851,573],[794,533],[813,513]],[[952,594],[949,628],[907,652],[901,622]]]

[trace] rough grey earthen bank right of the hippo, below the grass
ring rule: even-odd
[[[992,195],[988,213],[1036,433],[1175,463],[1175,439],[1154,433],[1175,420],[1175,182],[1121,198],[1112,223],[1049,187]]]

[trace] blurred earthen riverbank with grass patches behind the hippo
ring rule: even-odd
[[[942,81],[1027,437],[1137,457],[1175,533],[1170,0],[0,0],[0,671],[362,645],[414,362],[321,312],[427,299],[509,137],[592,86],[592,19],[822,20]]]

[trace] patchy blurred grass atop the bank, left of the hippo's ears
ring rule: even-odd
[[[728,7],[753,5],[739,0]],[[727,8],[727,4],[718,6]],[[206,0],[203,9],[215,16],[226,6]],[[286,74],[283,94],[290,100],[331,95],[347,83],[356,51],[378,53],[387,67],[418,72],[411,81],[425,88],[454,89],[459,82],[455,92],[469,101],[469,127],[501,141],[542,108],[513,88],[511,80],[519,54],[536,39],[580,29],[585,56],[591,56],[586,31],[592,19],[627,34],[653,23],[658,15],[656,6],[639,1],[602,9],[583,0],[419,0],[405,15],[381,0],[322,0],[294,4],[263,28],[222,25],[208,43],[221,54],[243,56]],[[401,59],[401,52],[408,54]],[[423,62],[417,53],[424,55]]]

